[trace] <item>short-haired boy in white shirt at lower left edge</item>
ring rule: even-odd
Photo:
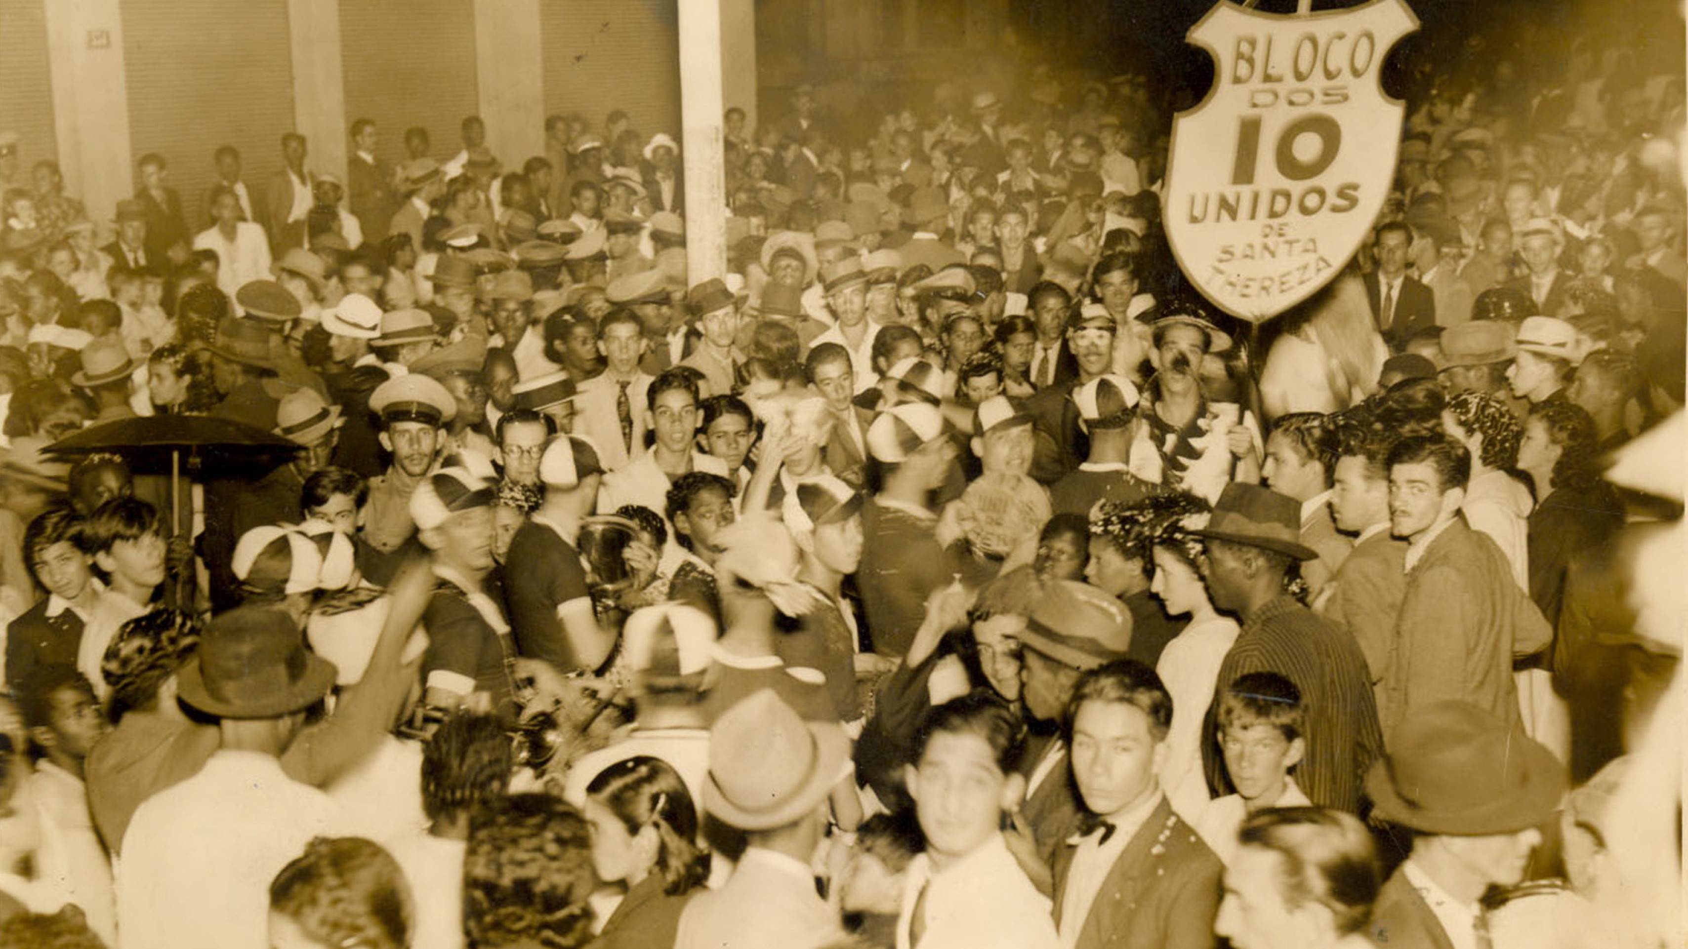
[[[111,860],[95,832],[83,784],[88,751],[108,731],[100,701],[88,679],[69,665],[39,669],[20,697],[30,741],[41,751],[29,778],[29,799],[41,816],[35,876],[81,907],[95,932],[115,941]]]

